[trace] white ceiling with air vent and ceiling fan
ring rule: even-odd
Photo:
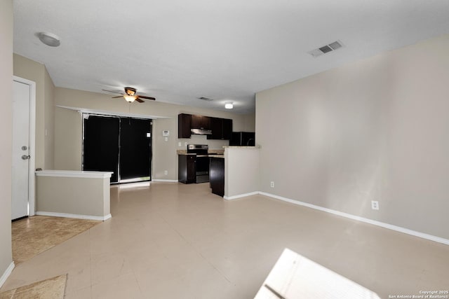
[[[236,113],[254,112],[255,92],[449,33],[448,0],[13,3],[14,52],[45,64],[58,87],[132,86],[160,102],[224,110],[233,101]],[[336,40],[345,47],[307,54]]]

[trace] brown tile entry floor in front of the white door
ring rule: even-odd
[[[11,225],[15,265],[88,230],[100,221],[32,216]]]

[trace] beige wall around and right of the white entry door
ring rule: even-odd
[[[36,168],[53,169],[55,122],[53,81],[43,64],[16,54],[14,54],[14,75],[36,83]]]

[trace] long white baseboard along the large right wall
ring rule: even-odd
[[[401,226],[396,226],[396,225],[392,225],[392,224],[389,224],[389,223],[383,223],[383,222],[380,222],[380,221],[375,221],[375,220],[372,220],[372,219],[368,219],[368,218],[364,218],[364,217],[360,217],[360,216],[355,216],[355,215],[352,215],[352,214],[347,214],[347,213],[344,213],[342,211],[335,211],[333,209],[327,209],[327,208],[324,208],[324,207],[319,207],[319,206],[316,206],[315,204],[309,204],[307,202],[300,202],[298,200],[291,200],[290,198],[282,197],[282,196],[279,196],[279,195],[274,195],[274,194],[271,194],[271,193],[259,192],[259,194],[260,195],[265,195],[265,196],[268,196],[268,197],[273,197],[273,198],[276,198],[277,200],[283,200],[284,202],[290,202],[292,204],[298,204],[298,205],[303,206],[303,207],[309,207],[311,209],[317,209],[319,211],[325,211],[327,213],[334,214],[334,215],[337,215],[337,216],[342,216],[342,217],[353,219],[353,220],[356,220],[356,221],[361,221],[361,222],[377,225],[377,226],[380,226],[382,228],[388,228],[389,230],[396,230],[396,232],[403,232],[405,234],[413,235],[415,237],[420,237],[422,239],[429,239],[429,240],[434,241],[434,242],[438,242],[438,243],[449,245],[449,239],[444,239],[442,237],[436,237],[434,235],[429,235],[429,234],[426,234],[424,232],[417,232],[415,230],[409,230],[408,228],[401,228]]]

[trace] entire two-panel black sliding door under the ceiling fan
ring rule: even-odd
[[[151,178],[152,120],[84,118],[83,170],[114,172],[111,183]]]

